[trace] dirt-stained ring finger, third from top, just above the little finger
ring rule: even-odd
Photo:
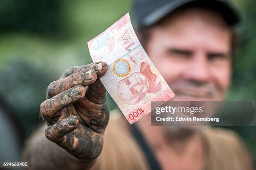
[[[52,117],[64,107],[81,100],[84,95],[85,89],[82,85],[72,87],[42,102],[40,105],[40,114],[45,118]]]

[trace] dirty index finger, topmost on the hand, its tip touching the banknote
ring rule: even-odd
[[[107,63],[100,61],[100,62],[94,62],[87,65],[70,67],[63,73],[63,75],[61,75],[59,79],[62,79],[76,72],[81,72],[84,70],[95,70],[95,72],[97,73],[97,77],[99,78],[99,77],[102,77],[107,72],[108,65]]]

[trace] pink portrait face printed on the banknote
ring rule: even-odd
[[[129,77],[118,82],[118,97],[129,105],[137,104],[148,90],[148,79],[140,72],[134,72]]]

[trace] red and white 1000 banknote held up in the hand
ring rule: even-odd
[[[104,61],[102,84],[132,124],[151,112],[151,101],[167,101],[174,93],[141,46],[129,13],[88,42],[93,62]]]

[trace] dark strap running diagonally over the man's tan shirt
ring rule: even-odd
[[[144,155],[148,160],[148,164],[151,170],[161,170],[159,163],[157,162],[154,154],[152,153],[151,149],[149,148],[148,144],[144,140],[141,132],[138,130],[136,125],[133,123],[131,125],[131,130],[134,138],[137,140],[138,144],[140,145],[141,149],[143,150]]]

